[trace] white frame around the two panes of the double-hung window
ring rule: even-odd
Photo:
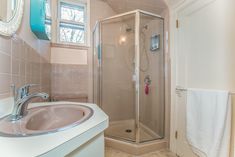
[[[74,22],[70,20],[62,20],[61,19],[61,3],[81,6],[84,8],[84,23],[82,22]],[[60,23],[66,24],[78,24],[84,26],[84,43],[73,43],[73,42],[65,42],[60,41]],[[88,12],[87,12],[87,3],[83,1],[74,1],[74,0],[58,0],[58,7],[57,7],[57,21],[56,21],[56,42],[58,44],[66,44],[72,46],[87,46],[88,45]]]

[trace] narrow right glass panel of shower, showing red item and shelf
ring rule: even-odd
[[[140,142],[164,138],[164,21],[140,14]]]

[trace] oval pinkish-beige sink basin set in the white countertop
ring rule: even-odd
[[[0,119],[0,135],[36,136],[63,131],[85,122],[92,115],[93,110],[84,105],[59,104],[34,107],[18,121],[10,121],[9,116]]]

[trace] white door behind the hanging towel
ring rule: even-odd
[[[223,24],[229,0],[195,0],[177,11],[175,85],[185,88],[226,88]],[[186,92],[175,95],[175,151],[197,157],[186,139]]]

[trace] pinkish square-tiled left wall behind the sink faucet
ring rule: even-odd
[[[0,36],[0,99],[12,95],[11,84],[39,84],[32,90],[50,94],[50,72],[49,61],[22,39]]]

